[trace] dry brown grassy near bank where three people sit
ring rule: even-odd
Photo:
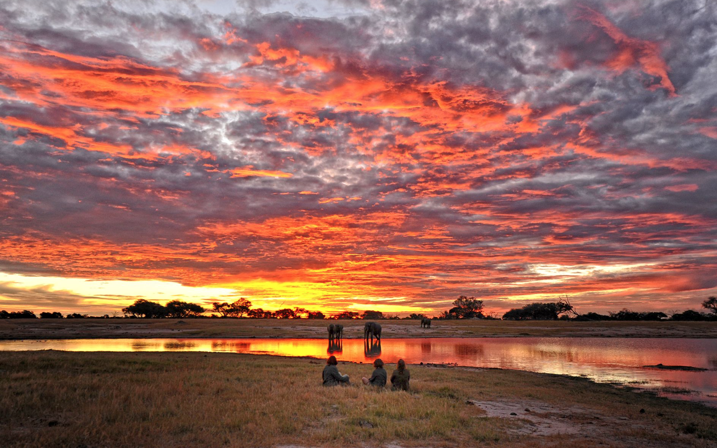
[[[371,372],[369,365],[338,367],[354,383]],[[386,368],[390,374],[394,365]],[[3,353],[0,440],[3,447],[72,448],[717,444],[717,409],[695,403],[559,375],[409,368],[413,390],[406,393],[323,388],[323,362],[303,358]],[[486,416],[472,401],[531,406],[541,419],[576,431],[526,435],[535,424]]]

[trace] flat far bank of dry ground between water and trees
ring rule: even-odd
[[[0,340],[97,337],[326,337],[341,323],[344,337],[363,337],[363,320],[315,319],[0,319]],[[717,322],[566,322],[381,320],[384,337],[717,337]]]

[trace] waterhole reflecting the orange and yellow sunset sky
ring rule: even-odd
[[[699,394],[668,396],[717,405],[717,340],[589,337],[384,339],[381,345],[347,339],[110,339],[0,341],[0,350],[206,351],[266,353],[371,363],[458,363],[540,373],[579,375],[640,388],[685,388]],[[643,365],[691,365],[707,372],[660,370]]]

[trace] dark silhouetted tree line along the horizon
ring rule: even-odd
[[[708,297],[702,302],[706,312],[698,312],[688,309],[684,312],[673,310],[669,314],[664,312],[637,312],[632,309],[623,308],[617,312],[599,314],[588,312],[579,314],[576,312],[567,297],[556,302],[535,302],[523,305],[520,308],[510,309],[502,317],[498,313],[485,312],[485,304],[482,299],[475,297],[460,296],[452,303],[453,307],[444,311],[432,319],[503,319],[503,320],[629,320],[629,321],[708,321],[717,320],[717,297]],[[207,312],[216,314],[206,315]],[[125,318],[188,318],[188,317],[224,317],[224,318],[254,318],[254,319],[422,319],[427,317],[422,313],[412,313],[407,317],[398,317],[397,314],[384,314],[380,311],[367,310],[364,312],[344,311],[336,314],[325,315],[320,311],[293,307],[277,309],[276,311],[265,311],[261,308],[252,308],[252,302],[244,297],[234,302],[212,302],[212,307],[206,309],[199,304],[171,300],[162,305],[158,302],[151,302],[146,299],[138,299],[133,304],[122,309]],[[39,317],[43,319],[62,319],[60,312],[41,312]],[[67,319],[80,318],[110,318],[110,315],[89,316],[87,314],[67,314]],[[120,317],[119,313],[113,313],[112,317]],[[0,319],[34,319],[37,315],[29,310],[7,312],[0,310]]]

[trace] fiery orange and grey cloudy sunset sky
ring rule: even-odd
[[[699,309],[716,24],[706,0],[0,0],[0,309]]]

